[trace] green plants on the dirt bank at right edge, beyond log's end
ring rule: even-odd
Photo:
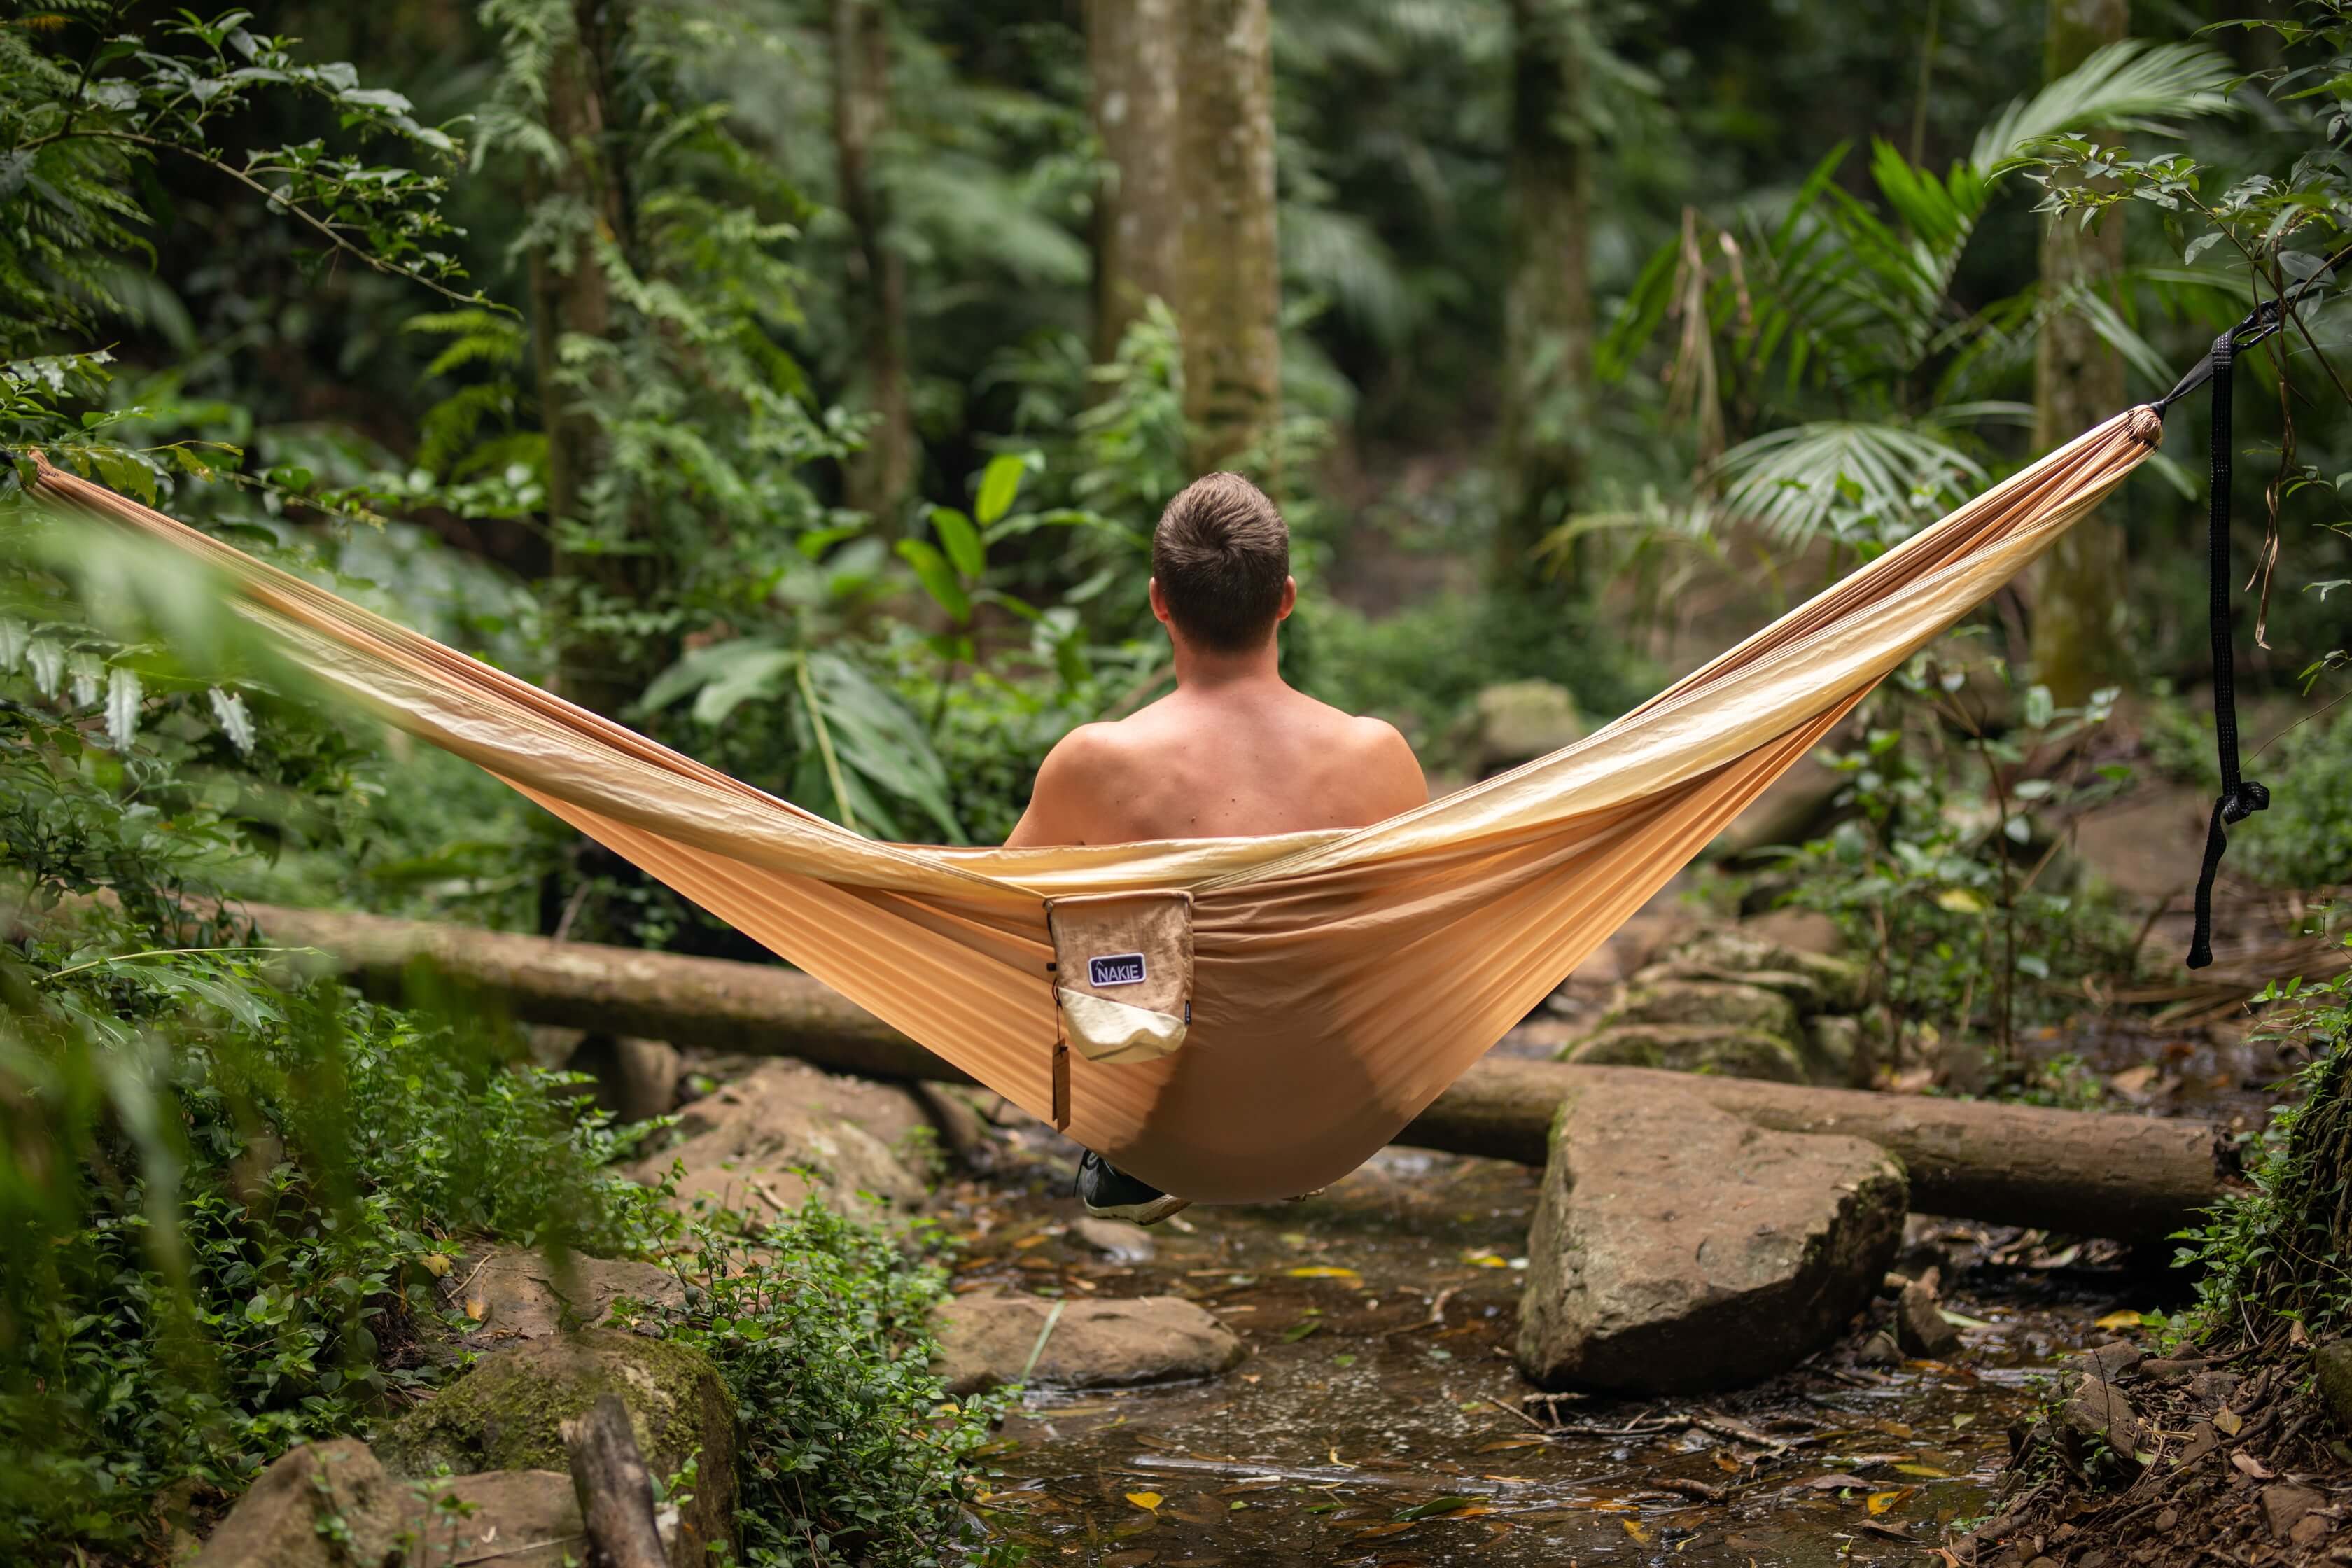
[[[2176,1326],[2279,1349],[2286,1324],[2312,1340],[2352,1328],[2352,973],[2274,980],[2253,1004],[2270,1006],[2253,1039],[2310,1060],[2246,1147],[2253,1190],[2183,1232],[2178,1262],[2197,1269],[2197,1302]]]

